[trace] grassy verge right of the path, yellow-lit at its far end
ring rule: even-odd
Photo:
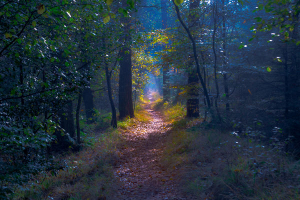
[[[300,162],[254,130],[242,135],[184,118],[184,107],[155,105],[173,124],[163,165],[177,171],[183,192],[195,199],[300,199]]]

